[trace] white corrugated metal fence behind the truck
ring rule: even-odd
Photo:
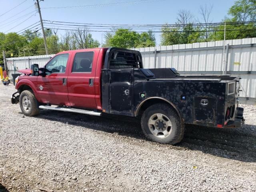
[[[241,76],[241,97],[256,100],[256,38],[226,40],[226,44],[229,44],[227,73]],[[141,52],[144,68],[173,67],[184,74],[222,74],[223,70],[223,41],[134,50]],[[14,72],[14,66],[24,69],[37,63],[42,67],[52,56],[54,55],[7,58],[9,74]]]

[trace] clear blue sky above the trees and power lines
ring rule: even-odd
[[[23,1],[24,0],[0,0],[0,15]],[[234,4],[234,0],[149,0],[149,2],[120,4],[116,6],[43,9],[46,7],[81,6],[131,1],[136,0],[44,0],[40,2],[40,7],[42,8],[41,12],[44,20],[97,24],[164,24],[166,22],[174,24],[178,10],[190,10],[190,12],[198,18],[198,9],[200,5],[205,4],[213,5],[211,20],[213,22],[220,22],[224,16],[227,16],[230,6]],[[26,2],[17,8],[0,16],[0,32],[18,32],[38,22],[38,14],[33,16],[32,13],[28,14],[35,10],[34,6],[32,6],[33,4],[33,0],[26,0]],[[29,6],[32,7],[28,8]],[[26,8],[28,9],[14,16]],[[25,14],[28,15],[20,18]],[[12,16],[14,17],[10,18]],[[21,22],[23,23],[20,24]],[[18,24],[20,25],[15,27]],[[58,33],[61,34],[63,31],[59,30]],[[102,32],[91,33],[94,38],[101,42]],[[156,34],[156,40],[157,44],[159,44],[160,34]]]

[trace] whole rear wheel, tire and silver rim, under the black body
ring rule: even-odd
[[[184,136],[183,122],[167,104],[148,107],[142,114],[141,126],[146,138],[159,143],[176,144]]]

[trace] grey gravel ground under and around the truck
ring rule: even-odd
[[[171,146],[134,118],[43,110],[26,117],[0,85],[0,191],[256,191],[256,106],[238,129],[186,126]]]

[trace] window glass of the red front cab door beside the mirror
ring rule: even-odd
[[[45,73],[50,75],[52,73],[65,73],[68,62],[68,54],[60,54],[55,56],[46,66]]]

